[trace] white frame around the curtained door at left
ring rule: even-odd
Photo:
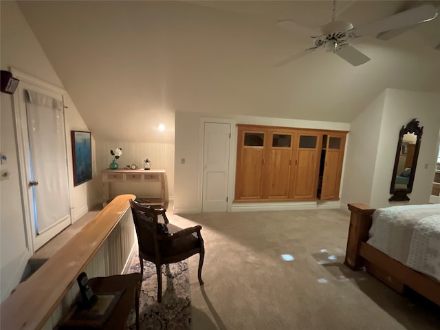
[[[46,89],[47,91],[59,94],[63,98],[65,98],[65,89],[62,89],[60,87],[56,87],[54,85],[51,85],[50,83],[46,83],[43,80],[40,80],[38,78],[35,78],[33,76],[30,76],[28,74],[25,74],[23,72],[20,72],[17,69],[14,69],[13,67],[10,68],[13,76],[19,80],[21,80],[23,83],[34,85],[35,87],[38,87],[40,89]],[[20,88],[20,85],[19,85]],[[20,174],[20,188],[21,188],[21,207],[23,210],[24,215],[24,226],[25,226],[25,239],[26,239],[26,245],[29,251],[29,254],[32,255],[34,252],[39,248],[39,246],[36,245],[34,242],[34,236],[36,236],[35,233],[35,227],[32,223],[34,217],[31,214],[31,201],[28,199],[28,168],[27,164],[28,162],[26,159],[28,159],[28,156],[26,155],[28,153],[28,150],[25,148],[25,135],[27,136],[27,133],[23,131],[23,120],[26,120],[27,118],[22,118],[22,111],[20,107],[21,101],[20,101],[20,93],[19,91],[16,91],[14,93],[12,98],[12,108],[14,113],[14,122],[15,122],[15,132],[16,132],[16,145],[17,145],[17,157],[18,157],[18,166],[19,166],[19,174]],[[69,189],[68,195],[69,195],[69,214],[70,214],[70,224],[72,224],[72,204],[70,201],[70,182],[69,182],[69,164],[67,162],[67,128],[65,124],[65,115],[64,115],[64,128],[65,128],[65,149],[66,149],[66,170],[67,170],[67,188]]]

